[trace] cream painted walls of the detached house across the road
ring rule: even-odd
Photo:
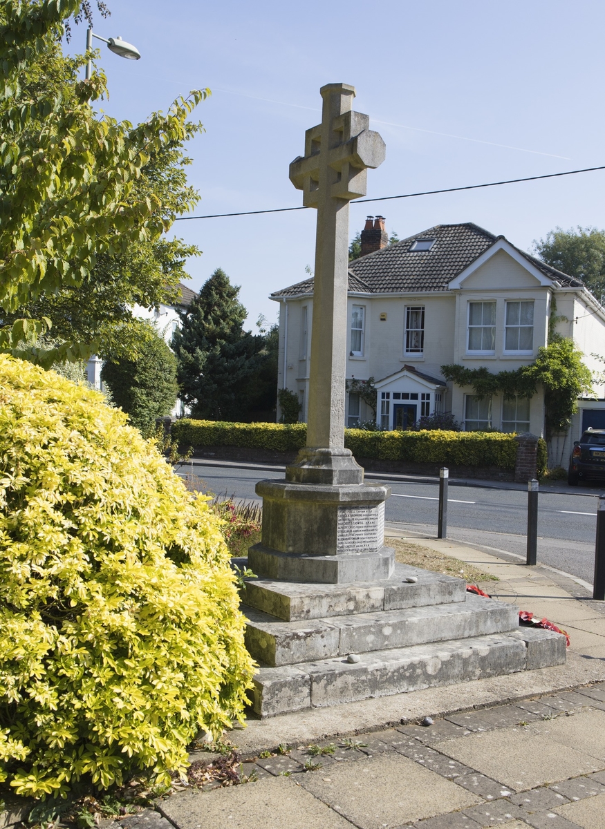
[[[556,330],[565,337],[573,336],[578,347],[585,354],[585,361],[592,371],[598,371],[601,364],[590,357],[593,351],[605,356],[605,320],[593,313],[593,308],[582,298],[577,289],[559,289],[556,296],[556,312],[567,318],[557,323]],[[349,296],[349,338],[347,351],[350,352],[350,319],[353,305],[365,308],[365,330],[363,355],[347,357],[347,377],[375,381],[400,371],[405,364],[417,371],[436,378],[442,377],[441,366],[445,363],[461,363],[469,368],[487,366],[489,371],[511,371],[527,365],[535,359],[538,348],[548,339],[550,303],[553,288],[544,287],[539,280],[525,270],[504,250],[499,250],[491,259],[482,264],[461,284],[461,288],[443,293],[409,293],[392,296]],[[534,338],[531,353],[505,352],[505,303],[514,300],[534,302]],[[467,351],[468,303],[472,301],[495,301],[495,350],[493,354],[469,354]],[[424,353],[404,353],[405,309],[407,306],[422,305],[425,308]],[[308,308],[308,348],[306,359],[300,353],[301,309]],[[293,299],[287,302],[287,347],[285,344],[285,307],[281,302],[280,314],[280,374],[279,383],[296,394],[304,393],[306,419],[309,385],[309,355],[311,342],[312,298]],[[381,321],[381,313],[386,320]],[[578,322],[573,322],[578,318]],[[285,354],[284,354],[285,351]],[[285,361],[285,362],[284,362]],[[286,363],[286,365],[285,365]],[[284,367],[285,365],[285,367]],[[598,396],[605,397],[605,386],[595,388]],[[445,409],[463,422],[465,416],[465,395],[470,389],[461,389],[448,384]],[[492,425],[501,426],[502,400],[492,401]],[[370,411],[362,410],[362,419],[369,418]],[[534,395],[530,406],[530,431],[544,432],[544,395]]]

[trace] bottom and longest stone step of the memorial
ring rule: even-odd
[[[560,633],[517,628],[510,633],[377,651],[364,654],[354,664],[337,658],[263,667],[254,677],[251,706],[257,715],[270,717],[563,665],[565,647]]]

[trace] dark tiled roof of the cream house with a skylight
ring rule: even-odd
[[[407,291],[446,291],[451,279],[472,264],[502,236],[495,236],[472,222],[435,225],[408,236],[383,250],[354,259],[349,264],[349,291],[354,293],[399,293]],[[431,250],[412,251],[417,239],[434,239]],[[513,245],[515,247],[515,245]],[[560,273],[534,256],[515,248],[543,274],[564,287],[582,287],[579,279]],[[288,298],[313,293],[313,279],[271,293],[272,298]]]

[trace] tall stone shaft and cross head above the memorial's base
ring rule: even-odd
[[[365,196],[368,167],[384,161],[385,145],[368,115],[351,110],[348,84],[322,86],[321,124],[305,133],[305,157],[290,164],[303,204],[317,208],[315,287],[310,355],[307,446],[344,446],[349,201]]]

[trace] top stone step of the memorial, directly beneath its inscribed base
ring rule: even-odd
[[[247,560],[244,566],[247,566]],[[417,581],[409,583],[408,578]],[[465,599],[466,584],[461,579],[402,564],[395,565],[390,579],[373,582],[309,584],[247,579],[242,596],[244,604],[285,622],[448,604]]]

